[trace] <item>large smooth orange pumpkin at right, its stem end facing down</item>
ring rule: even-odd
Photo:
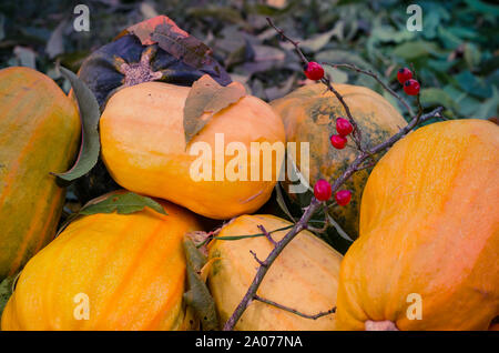
[[[364,190],[338,329],[487,330],[499,314],[497,180],[499,127],[489,121],[432,123],[398,141]],[[418,304],[421,320],[410,320]]]

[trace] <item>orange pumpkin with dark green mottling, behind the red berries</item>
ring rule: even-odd
[[[375,145],[398,132],[406,121],[398,111],[378,93],[358,85],[335,84],[361,130],[365,145]],[[302,87],[292,93],[271,102],[281,115],[286,129],[288,142],[296,142],[296,165],[314,186],[318,179],[333,182],[354,161],[357,155],[355,143],[348,138],[343,150],[332,147],[329,138],[336,134],[335,120],[346,117],[338,99],[322,83]],[[309,143],[309,168],[301,161],[301,143]],[[353,191],[352,201],[346,206],[332,209],[332,215],[350,238],[358,234],[358,214],[360,198],[366,184],[368,170],[357,172],[344,185]],[[286,185],[287,186],[287,185]],[[289,193],[293,199],[296,194]],[[307,205],[312,193],[301,198]]]

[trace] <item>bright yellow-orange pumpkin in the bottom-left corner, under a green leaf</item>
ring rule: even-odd
[[[189,329],[182,239],[200,225],[161,203],[167,215],[144,209],[72,222],[21,272],[2,330]]]

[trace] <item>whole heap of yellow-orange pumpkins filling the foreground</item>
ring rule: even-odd
[[[366,143],[406,124],[369,89],[336,89]],[[217,238],[258,234],[262,226],[275,240],[286,234],[291,222],[255,214],[278,171],[272,180],[192,180],[195,157],[186,151],[183,128],[190,90],[164,82],[121,88],[106,98],[100,119],[101,158],[113,180],[155,198],[166,214],[145,208],[80,216],[54,238],[65,185],[52,173],[77,158],[78,108],[38,71],[0,70],[0,279],[22,270],[2,330],[200,329],[183,299],[184,235],[211,231],[206,219],[227,220]],[[248,151],[252,142],[309,142],[314,184],[334,180],[355,159],[355,149],[329,145],[332,119],[344,114],[320,83],[271,103],[247,94],[211,117],[190,143],[215,150],[216,133]],[[347,233],[358,234],[345,256],[302,231],[257,292],[308,315],[336,312],[307,319],[253,301],[235,329],[497,329],[498,152],[499,127],[486,120],[436,122],[403,138],[370,174],[364,170],[347,182],[352,203],[330,210]],[[222,324],[256,273],[254,255],[263,260],[273,246],[265,236],[208,243],[207,285]],[[83,313],[81,300],[88,300]]]

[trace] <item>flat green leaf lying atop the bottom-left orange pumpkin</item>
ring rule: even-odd
[[[122,194],[112,194],[109,198],[83,206],[78,213],[83,215],[95,213],[112,213],[116,211],[119,214],[130,214],[150,208],[161,214],[166,214],[163,206],[151,198],[139,195],[134,192]]]

